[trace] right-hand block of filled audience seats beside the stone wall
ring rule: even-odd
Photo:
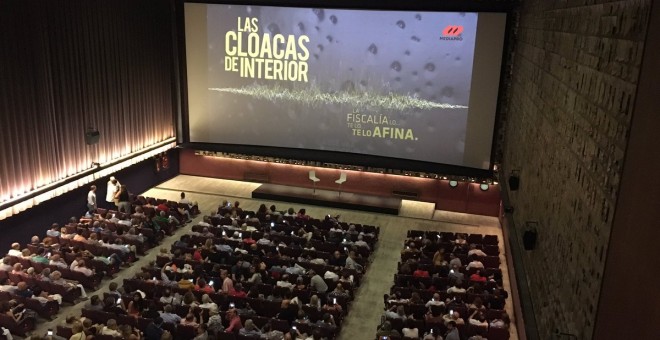
[[[450,339],[508,339],[498,242],[495,235],[408,231],[377,339],[447,339],[450,321],[458,329]]]

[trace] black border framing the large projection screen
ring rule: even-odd
[[[174,0],[174,22],[175,29],[173,32],[174,39],[176,40],[176,56],[175,61],[178,61],[177,73],[175,75],[175,83],[177,84],[177,98],[178,108],[177,111],[177,146],[181,148],[188,148],[200,151],[214,151],[226,152],[235,154],[245,154],[249,156],[262,156],[262,157],[277,157],[283,159],[295,159],[301,161],[312,161],[321,163],[335,163],[365,166],[373,168],[395,169],[402,171],[420,171],[441,173],[446,175],[457,176],[471,176],[471,177],[492,177],[494,173],[494,166],[496,164],[496,152],[499,149],[496,145],[498,139],[498,131],[502,124],[501,114],[501,101],[504,97],[505,78],[507,69],[507,54],[510,49],[510,33],[512,13],[515,9],[515,0],[498,1],[497,3],[483,3],[478,1],[461,1],[449,0],[442,3],[437,2],[396,2],[392,0],[384,0],[377,3],[369,2],[367,0],[339,0],[333,1],[294,1],[294,0],[279,0],[279,1],[195,1],[195,0]],[[497,95],[496,112],[493,124],[493,134],[491,140],[491,150],[489,166],[487,169],[472,168],[460,165],[425,162],[418,160],[411,160],[405,158],[393,158],[386,156],[374,156],[369,154],[358,154],[340,151],[328,150],[315,150],[315,149],[300,149],[300,148],[284,148],[273,147],[267,145],[246,145],[246,144],[226,144],[226,143],[199,143],[190,141],[189,130],[189,111],[188,111],[188,79],[187,79],[187,64],[186,64],[186,39],[185,39],[185,3],[201,3],[201,4],[235,4],[235,5],[254,5],[254,6],[275,6],[275,7],[292,7],[292,8],[334,8],[334,9],[353,9],[353,10],[384,10],[384,11],[431,11],[431,12],[491,12],[491,13],[504,13],[505,19],[505,35],[502,48],[502,61],[500,65],[500,80],[499,90]],[[178,81],[176,81],[178,80]]]

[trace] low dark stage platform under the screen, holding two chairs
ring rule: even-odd
[[[262,184],[252,191],[252,198],[327,206],[339,209],[377,212],[381,214],[398,215],[401,199],[371,195],[353,194],[350,192],[320,190],[293,187],[288,185]]]

